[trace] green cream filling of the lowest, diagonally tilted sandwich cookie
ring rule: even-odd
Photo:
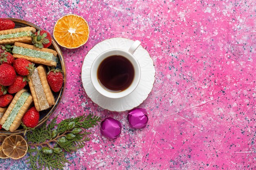
[[[30,93],[25,91],[22,93],[17,100],[16,104],[14,105],[13,109],[11,110],[10,115],[7,117],[6,121],[2,125],[2,128],[5,130],[9,130],[11,127],[12,122],[14,121],[15,117],[17,116],[18,112],[22,108],[22,106],[25,104],[27,98],[29,97]]]

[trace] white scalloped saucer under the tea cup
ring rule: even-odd
[[[128,48],[133,44],[134,41],[126,38],[111,38],[104,40],[96,44],[85,56],[82,67],[82,82],[83,88],[85,89],[88,97],[92,101],[102,108],[110,111],[126,111],[131,110],[139,106],[147,97],[153,88],[153,83],[155,82],[155,68],[153,65],[153,60],[151,59],[148,51],[143,49],[142,46],[135,51],[133,54],[141,66],[141,79],[137,88],[127,95],[126,97],[119,99],[110,99],[101,95],[92,86],[90,79],[90,69],[94,59],[102,52],[110,49],[124,49],[128,51]]]

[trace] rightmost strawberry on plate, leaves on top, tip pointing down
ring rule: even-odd
[[[52,91],[54,92],[58,92],[62,88],[63,74],[61,72],[63,71],[60,70],[59,68],[57,69],[52,68],[52,70],[50,70],[47,73],[47,77],[46,77],[47,82],[49,86],[52,88]]]

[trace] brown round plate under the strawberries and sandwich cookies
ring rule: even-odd
[[[25,20],[21,20],[21,19],[17,19],[17,18],[7,18],[7,19],[12,20],[15,23],[15,28],[32,26],[32,27],[36,28],[36,31],[42,30],[39,26],[36,26],[35,24],[32,24],[31,22],[28,22]],[[39,118],[39,123],[36,127],[40,126],[45,121],[47,121],[49,119],[49,117],[52,115],[52,113],[54,113],[54,110],[58,107],[58,104],[61,102],[61,98],[62,98],[65,84],[66,84],[66,68],[65,68],[64,57],[63,57],[60,47],[58,46],[58,44],[56,43],[56,41],[53,38],[52,38],[52,45],[49,47],[49,49],[53,49],[58,53],[59,60],[58,60],[56,68],[60,68],[63,70],[63,85],[62,85],[61,91],[59,91],[57,93],[53,92],[54,98],[55,98],[54,106],[52,106],[51,108],[49,108],[47,110],[43,110],[43,111],[39,112],[40,118]],[[25,88],[29,89],[29,86],[27,85]],[[10,132],[10,131],[1,129],[0,135],[13,135],[13,134],[19,134],[19,133],[24,133],[24,132],[25,132],[25,129],[23,129],[23,127],[20,126],[14,132]]]

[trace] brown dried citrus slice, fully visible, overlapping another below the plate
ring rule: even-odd
[[[10,135],[4,139],[2,151],[7,157],[20,159],[27,153],[27,141],[20,135]]]

